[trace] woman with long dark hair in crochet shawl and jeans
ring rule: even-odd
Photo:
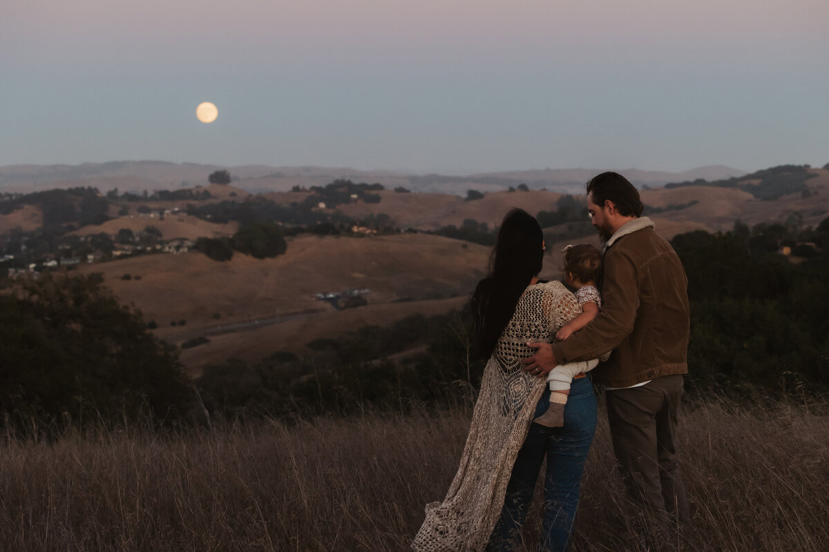
[[[531,425],[549,405],[550,390],[544,377],[522,369],[521,359],[534,353],[526,343],[551,342],[580,314],[574,295],[561,282],[538,281],[543,256],[538,222],[526,211],[512,209],[498,232],[490,274],[473,294],[481,351],[490,356],[472,425],[444,502],[426,506],[426,519],[412,543],[418,552],[513,550],[545,454],[541,550],[568,545],[593,441],[596,401],[589,378],[574,379],[565,426]]]

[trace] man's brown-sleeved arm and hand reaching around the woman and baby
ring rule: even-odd
[[[605,256],[602,304],[599,316],[567,341],[527,343],[537,351],[524,359],[524,369],[543,375],[560,363],[597,358],[633,332],[639,309],[638,274],[637,266],[624,253],[611,250]]]

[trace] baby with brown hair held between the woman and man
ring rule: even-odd
[[[575,288],[575,298],[581,306],[582,313],[563,326],[555,338],[565,341],[570,335],[584,328],[590,320],[599,315],[602,306],[602,296],[596,287],[602,271],[602,256],[599,250],[589,244],[569,245],[565,247],[565,284]],[[561,427],[565,424],[565,405],[570,394],[570,383],[573,377],[589,372],[599,364],[594,358],[584,362],[570,362],[553,368],[547,374],[550,382],[550,407],[537,417],[536,424],[547,427]]]

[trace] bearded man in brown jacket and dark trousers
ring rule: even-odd
[[[655,511],[688,516],[676,464],[676,415],[682,396],[690,320],[685,270],[671,244],[642,217],[636,188],[605,172],[587,184],[587,207],[605,242],[603,308],[564,342],[537,348],[525,370],[544,376],[558,364],[597,358],[613,452],[633,498]]]

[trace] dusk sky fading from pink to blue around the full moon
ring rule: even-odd
[[[0,0],[0,166],[823,166],[827,29],[826,0]]]

